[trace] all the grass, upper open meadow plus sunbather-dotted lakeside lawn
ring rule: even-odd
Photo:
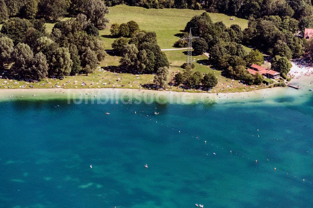
[[[145,9],[143,7],[129,7],[125,5],[118,5],[115,7],[110,7],[110,14],[108,18],[110,23],[108,27],[104,30],[100,30],[100,38],[105,42],[105,49],[111,49],[111,43],[114,38],[110,37],[110,25],[112,23],[123,23],[130,20],[136,21],[142,30],[155,31],[157,34],[158,44],[161,48],[173,48],[172,45],[175,41],[179,39],[179,34],[182,33],[181,30],[184,29],[186,23],[196,14],[201,14],[204,11],[199,10],[189,10],[189,9]],[[231,16],[227,16],[219,13],[209,13],[213,22],[223,21],[226,26],[231,24],[239,24],[242,29],[247,27],[248,21],[245,19],[235,18],[234,21],[229,20]],[[67,18],[63,18],[65,20]],[[62,21],[61,20],[61,21]],[[55,23],[46,23],[47,31],[51,32]],[[0,25],[1,27],[1,25]],[[249,51],[248,47],[244,47],[245,50]],[[183,72],[180,68],[184,62],[186,62],[186,51],[164,51],[170,62],[170,72],[168,80],[174,77],[177,71]],[[66,77],[64,80],[59,79],[48,79],[42,80],[36,83],[25,83],[25,81],[15,81],[15,80],[5,80],[0,79],[1,88],[20,88],[20,86],[26,84],[25,88],[29,88],[32,84],[34,88],[51,88],[57,86],[62,86],[62,88],[98,88],[98,87],[121,87],[121,88],[140,88],[144,84],[153,83],[153,75],[151,74],[141,74],[139,76],[120,73],[119,72],[119,60],[121,57],[115,56],[113,52],[108,53],[99,64],[99,68],[95,72],[86,76],[85,74],[76,77]],[[253,90],[254,86],[250,88],[245,88],[240,85],[238,81],[232,81],[226,77],[223,77],[221,71],[214,70],[208,65],[208,57],[204,55],[193,56],[195,68],[193,71],[199,71],[201,73],[212,72],[218,78],[218,85],[212,89],[212,92],[242,92]],[[101,67],[101,68],[100,68]],[[114,73],[115,72],[117,73]],[[111,72],[112,71],[112,72]],[[174,73],[172,73],[174,72]],[[2,73],[2,72],[1,72]],[[2,75],[6,76],[6,73]],[[139,78],[136,78],[139,77]],[[75,82],[76,81],[76,82]],[[16,83],[14,83],[16,82]],[[87,85],[82,85],[85,82]],[[45,83],[44,85],[42,85]],[[105,83],[105,84],[104,84]],[[122,85],[125,85],[122,87]],[[230,86],[232,85],[232,87]],[[227,87],[228,86],[228,87]],[[55,87],[56,90],[59,87]],[[260,86],[256,87],[260,88]],[[178,87],[172,87],[174,91],[181,91]],[[187,91],[187,92],[198,92],[198,91]]]

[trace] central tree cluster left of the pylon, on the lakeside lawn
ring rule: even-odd
[[[122,56],[121,67],[130,71],[154,73],[160,67],[168,67],[165,53],[156,42],[155,32],[140,31],[128,39],[117,38],[112,47]]]

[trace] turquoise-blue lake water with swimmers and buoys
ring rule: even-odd
[[[297,92],[206,105],[0,102],[0,207],[312,207],[313,93]]]

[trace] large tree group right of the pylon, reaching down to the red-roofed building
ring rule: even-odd
[[[226,27],[223,22],[213,23],[210,16],[204,12],[192,17],[185,27],[186,33],[190,28],[194,36],[200,37],[193,41],[194,53],[208,51],[210,63],[225,70],[226,76],[249,84],[260,84],[263,81],[259,74],[251,75],[245,70],[247,64],[263,64],[263,55],[258,50],[252,50],[250,53],[244,50],[242,46],[244,34],[239,25]],[[179,40],[175,45],[183,45],[183,42],[184,40]]]

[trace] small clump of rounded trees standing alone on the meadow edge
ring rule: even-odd
[[[135,21],[127,23],[113,23],[110,28],[113,37],[131,37],[140,31],[139,25]]]

